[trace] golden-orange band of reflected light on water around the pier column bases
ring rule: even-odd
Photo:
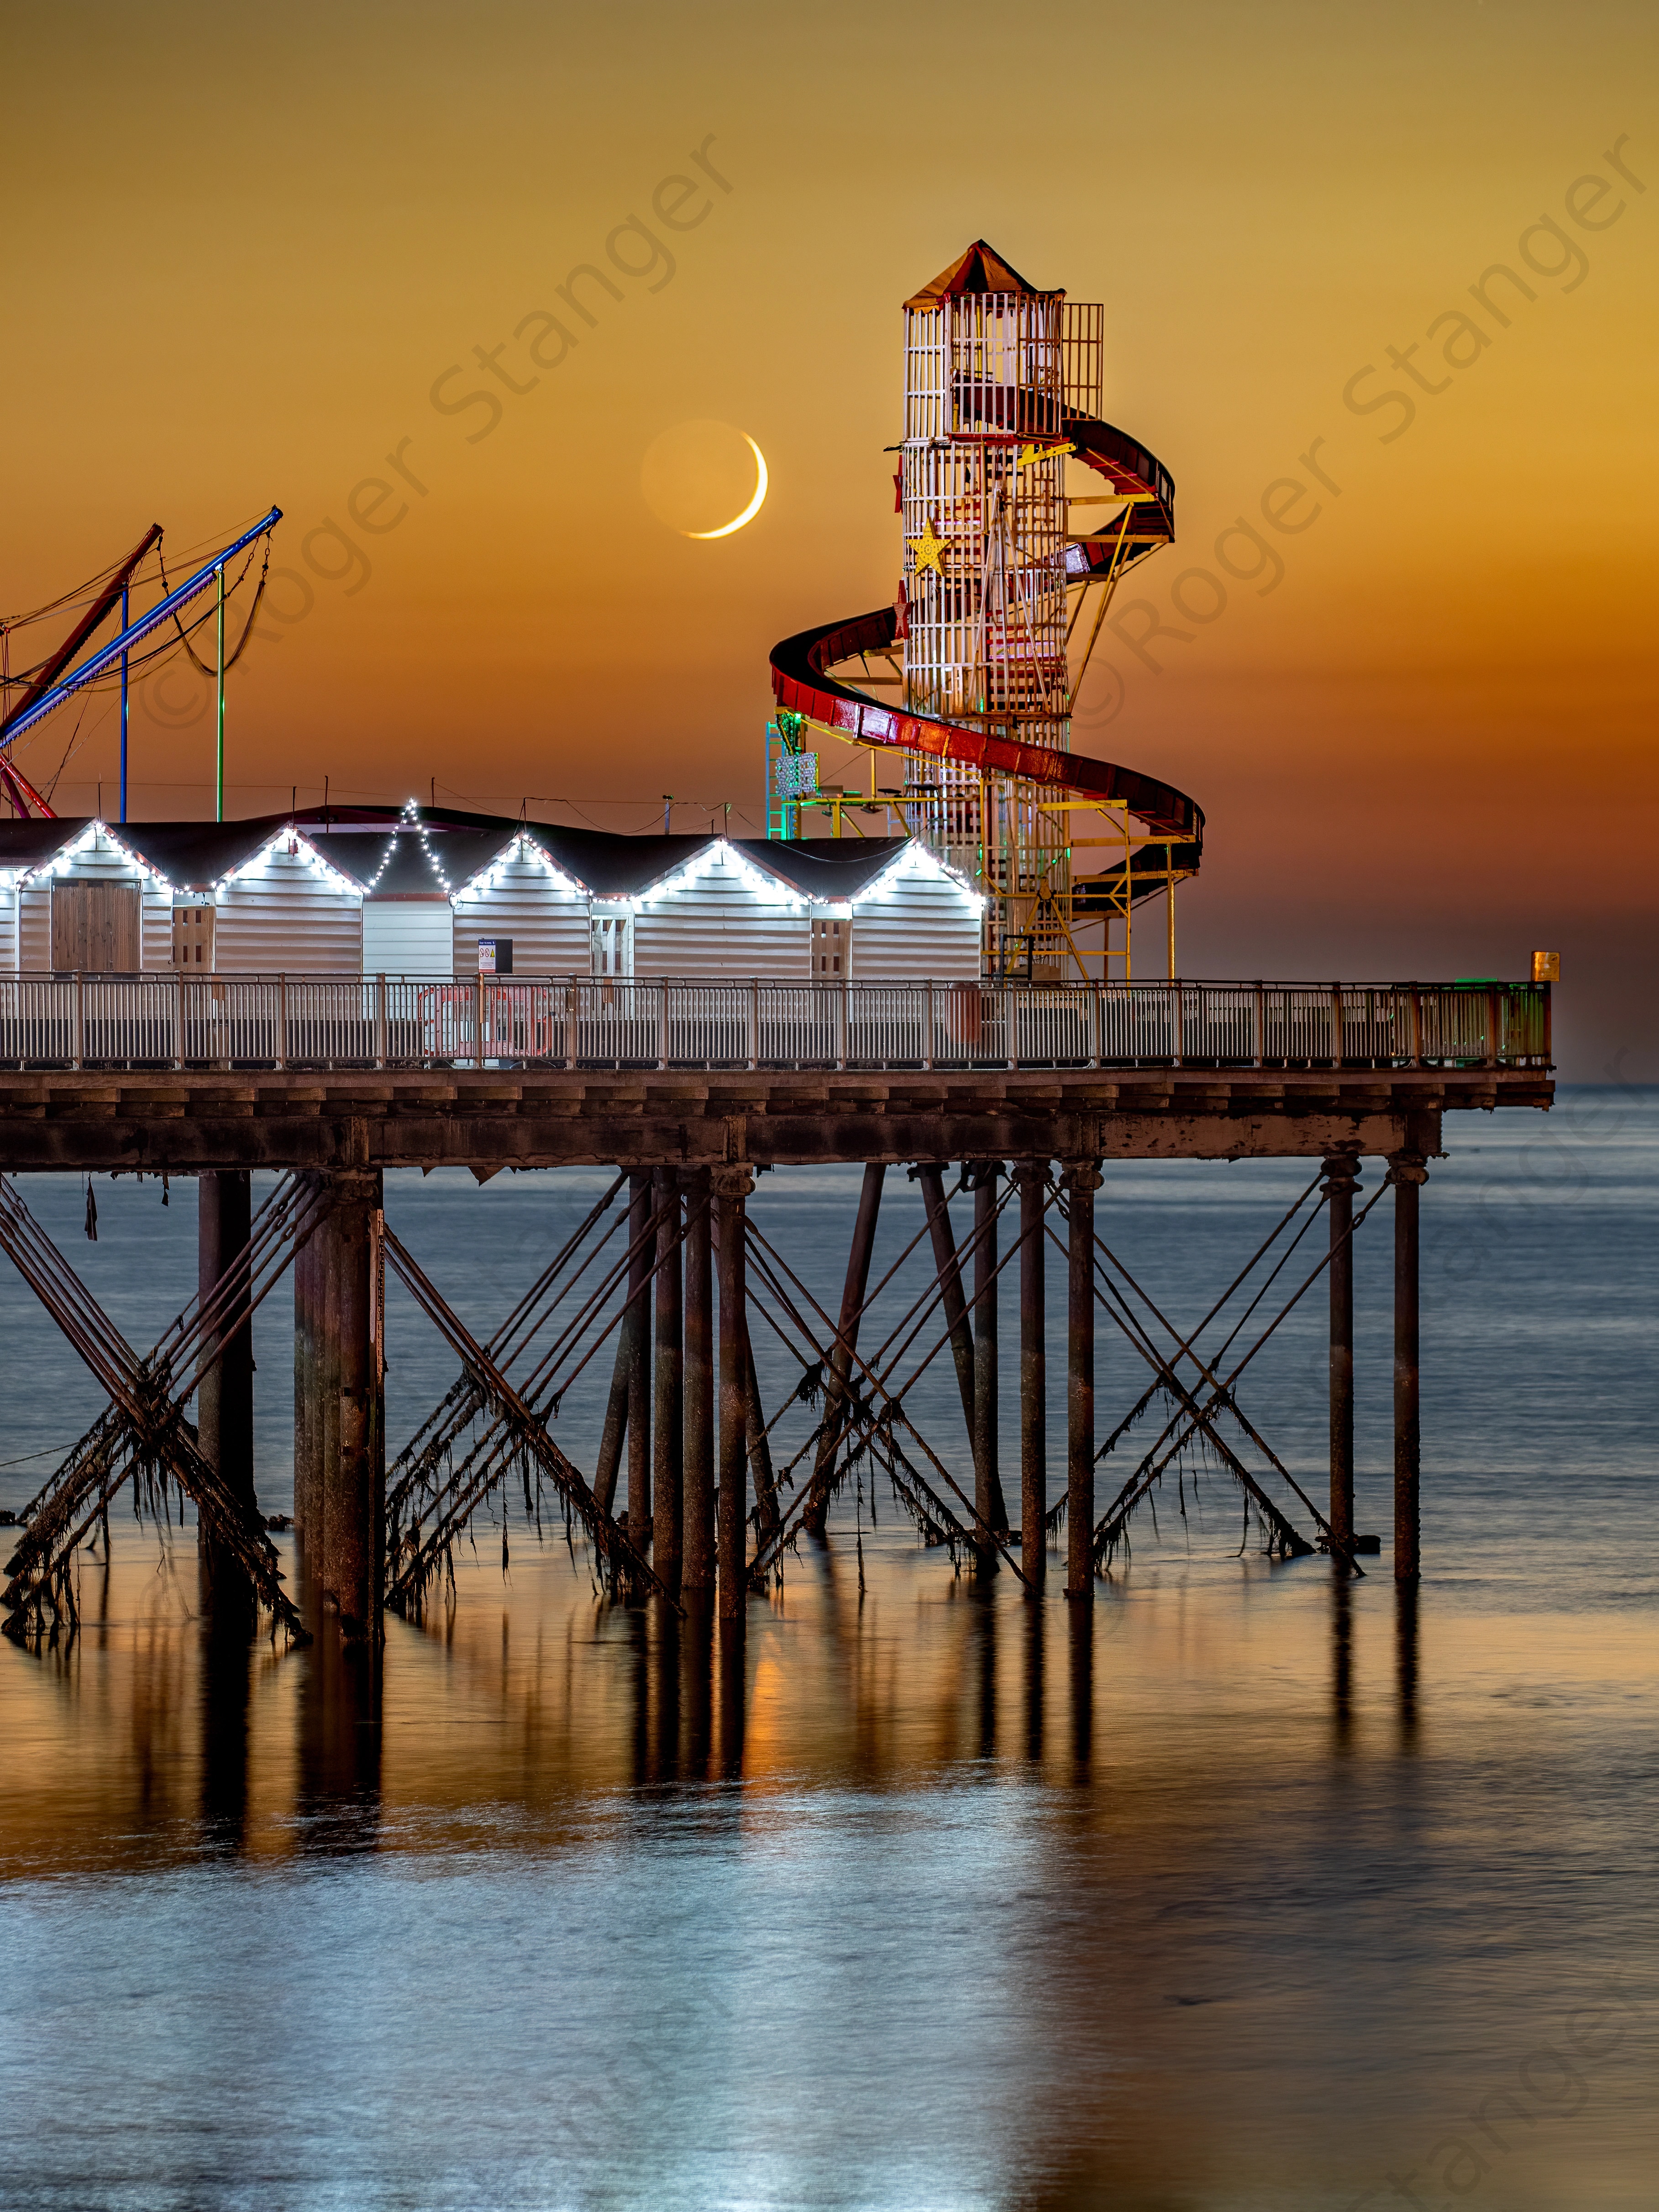
[[[0,1717],[35,1752],[0,1818],[13,1871],[53,1858],[69,1814],[75,1849],[115,1863],[330,1856],[418,1838],[414,1807],[593,1790],[887,1787],[958,1763],[1091,1787],[1155,1759],[1177,1717],[1214,1728],[1243,1686],[1265,1703],[1237,1743],[1263,1732],[1303,1761],[1323,1756],[1305,1734],[1318,1712],[1323,1745],[1354,1761],[1416,1754],[1436,1710],[1425,1597],[1325,1562],[1121,1573],[1077,1606],[956,1575],[894,1533],[865,1542],[863,1588],[843,1542],[816,1544],[739,1626],[708,1601],[611,1601],[549,1546],[515,1551],[511,1577],[460,1566],[425,1619],[387,1621],[380,1650],[314,1615],[316,1641],[292,1652],[208,1610],[192,1566],[188,1537],[157,1555],[117,1528],[113,1555],[82,1564],[80,1637],[4,1650]],[[1438,1617],[1451,1648],[1471,1632]],[[1442,1652],[1440,1708],[1447,1694],[1460,1681]]]

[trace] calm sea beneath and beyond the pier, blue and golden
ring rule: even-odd
[[[1199,1471],[1079,1626],[865,1489],[732,1659],[606,1604],[518,1500],[507,1571],[482,1522],[376,1681],[327,1639],[208,1663],[195,1531],[122,1520],[80,1639],[0,1644],[0,2203],[1648,2212],[1659,1095],[1449,1115],[1447,1141],[1413,1604],[1387,1557],[1387,1199],[1356,1241],[1385,1553],[1352,1586],[1265,1559]],[[1307,1181],[1106,1177],[1102,1234],[1181,1323]],[[392,1177],[387,1212],[487,1334],[604,1183]],[[195,1285],[195,1186],[100,1179],[97,1243],[84,1186],[24,1194],[157,1336]],[[825,1303],[854,1199],[856,1172],[779,1170],[752,1201]],[[918,1225],[889,1172],[885,1252]],[[1055,1265],[1055,1380],[1062,1296]],[[100,1398],[9,1270],[0,1325],[20,1506]],[[1323,1283],[1241,1387],[1312,1491],[1321,1329]],[[799,1367],[757,1352],[776,1398]],[[285,1285],[257,1360],[285,1511]],[[389,1363],[398,1442],[453,1374],[398,1292]],[[588,1464],[602,1369],[560,1413]],[[1102,1325],[1102,1420],[1141,1376]],[[907,1402],[960,1469],[945,1360]],[[1015,1416],[1004,1389],[1011,1495]]]

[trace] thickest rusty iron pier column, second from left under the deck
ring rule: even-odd
[[[323,1460],[323,1601],[332,1599],[349,1639],[372,1639],[380,1624],[380,1524],[385,1495],[376,1482],[376,1356],[372,1314],[372,1217],[380,1208],[378,1172],[334,1177],[334,1203],[319,1230],[327,1265],[325,1383],[327,1453]]]

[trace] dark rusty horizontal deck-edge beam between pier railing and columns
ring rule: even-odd
[[[0,1168],[801,1166],[1438,1150],[1440,1113],[1548,1108],[1533,1068],[1044,1073],[40,1073]]]

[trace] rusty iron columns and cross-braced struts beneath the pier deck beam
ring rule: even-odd
[[[294,1520],[312,1599],[338,1615],[347,1637],[376,1637],[380,1606],[418,1615],[434,1588],[453,1595],[453,1546],[480,1513],[500,1522],[507,1568],[515,1489],[538,1537],[544,1493],[553,1493],[573,1555],[580,1535],[595,1588],[608,1597],[661,1599],[675,1610],[719,1601],[739,1626],[745,1595],[781,1584],[801,1540],[827,1540],[836,1502],[841,1526],[854,1506],[863,1577],[863,1524],[876,1520],[878,1484],[956,1571],[1006,1568],[1033,1597],[1064,1537],[1066,1597],[1091,1601],[1126,1548],[1130,1515],[1155,1504],[1170,1473],[1181,1513],[1190,1480],[1219,1471],[1241,1493],[1245,1542],[1254,1520],[1267,1553],[1323,1548],[1358,1575],[1360,1553],[1378,1540],[1354,1531],[1349,1254],[1385,1192],[1396,1201],[1396,1575],[1409,1579],[1418,1571],[1416,1199],[1438,1126],[1429,1117],[1389,1124],[1389,1175],[1358,1208],[1360,1137],[1327,1121],[1318,1128],[1318,1172],[1186,1334],[1119,1241],[1097,1228],[1099,1152],[1015,1157],[1013,1166],[1006,1155],[922,1157],[909,1168],[916,1192],[898,1219],[891,1197],[883,1214],[887,1164],[867,1164],[838,1310],[821,1254],[757,1219],[748,1164],[728,1155],[719,1166],[628,1166],[487,1340],[385,1223],[376,1172],[285,1175],[250,1223],[246,1172],[239,1212],[234,1188],[221,1188],[237,1175],[212,1170],[199,1206],[204,1290],[146,1360],[0,1181],[0,1248],[113,1400],[29,1509],[4,1593],[13,1632],[62,1619],[73,1628],[75,1548],[106,1531],[111,1495],[128,1475],[150,1484],[146,1495],[164,1511],[166,1482],[192,1498],[204,1564],[210,1540],[301,1632],[252,1506],[252,1400],[230,1387],[230,1352],[290,1256],[299,1259]],[[1327,1241],[1307,1265],[1298,1254],[1321,1219],[1316,1194]],[[1064,1263],[1066,1480],[1055,1502],[1048,1248]],[[389,1480],[383,1270],[460,1363]],[[1329,1513],[1267,1442],[1239,1387],[1323,1276]],[[1018,1301],[1006,1296],[1015,1285]],[[1002,1469],[1004,1307],[1018,1310],[1018,1513]],[[1146,1387],[1104,1436],[1095,1411],[1102,1316],[1146,1367]],[[606,1345],[611,1369],[595,1391],[588,1371]],[[184,1413],[192,1389],[199,1429]],[[591,1478],[580,1464],[588,1409]],[[230,1433],[237,1422],[246,1449]],[[1133,1467],[1097,1515],[1099,1471],[1119,1467],[1130,1447]],[[626,1504],[615,1511],[624,1471]]]

